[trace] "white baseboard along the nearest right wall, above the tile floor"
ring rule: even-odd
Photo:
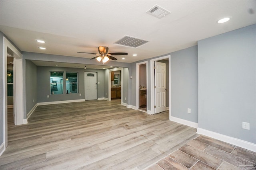
[[[243,141],[241,139],[237,139],[237,138],[234,138],[234,137],[222,135],[220,133],[216,133],[216,132],[213,132],[213,131],[208,131],[208,130],[202,129],[202,128],[197,128],[197,133],[200,134],[200,135],[205,135],[205,136],[208,136],[208,137],[212,137],[214,139],[218,139],[220,141],[230,143],[232,145],[236,145],[238,147],[256,152],[256,144],[255,143],[250,143],[250,142],[247,142],[247,141]]]

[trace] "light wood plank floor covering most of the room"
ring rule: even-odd
[[[28,124],[8,126],[0,169],[144,169],[197,136],[168,111],[148,115],[120,100],[38,106]]]

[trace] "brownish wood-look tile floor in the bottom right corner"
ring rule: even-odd
[[[147,170],[255,170],[256,153],[200,135]]]

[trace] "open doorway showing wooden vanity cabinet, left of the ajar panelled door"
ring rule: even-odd
[[[148,62],[136,63],[136,107],[148,111]]]

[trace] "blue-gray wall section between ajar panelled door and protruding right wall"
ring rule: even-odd
[[[171,88],[172,116],[198,123],[197,46],[171,53]]]

